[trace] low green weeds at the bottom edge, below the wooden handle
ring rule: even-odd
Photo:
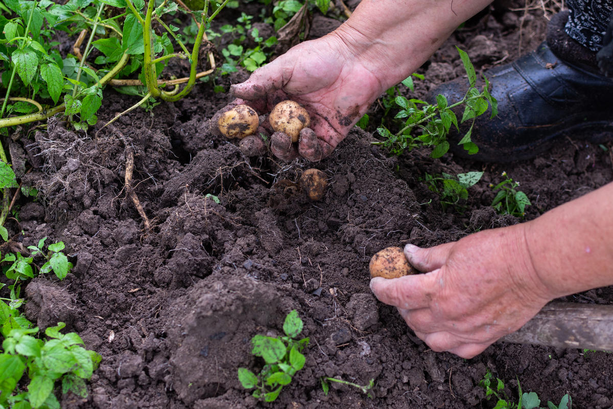
[[[494,386],[495,383],[495,386]],[[517,389],[519,394],[519,402],[515,403],[504,392],[504,382],[500,378],[493,378],[492,372],[488,369],[485,372],[483,379],[479,382],[479,386],[485,389],[485,397],[490,400],[492,396],[497,399],[494,409],[541,409],[541,400],[536,392],[524,392],[522,393],[522,386],[517,380]],[[571,409],[573,406],[573,400],[569,394],[566,394],[560,400],[558,405],[547,401],[548,409]],[[545,408],[543,408],[545,409]]]

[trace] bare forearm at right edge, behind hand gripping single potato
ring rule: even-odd
[[[559,297],[613,285],[613,183],[525,224],[541,281]]]

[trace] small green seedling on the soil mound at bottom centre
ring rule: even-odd
[[[283,323],[284,336],[255,335],[251,338],[251,353],[264,359],[265,365],[257,375],[249,369],[238,368],[238,380],[245,389],[256,388],[253,396],[257,399],[273,402],[283,386],[289,384],[295,373],[304,367],[306,359],[301,351],[308,345],[309,338],[297,340],[302,327],[298,312],[292,310]]]

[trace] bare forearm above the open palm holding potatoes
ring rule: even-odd
[[[381,82],[381,92],[413,73],[464,21],[491,0],[362,0],[338,36]]]

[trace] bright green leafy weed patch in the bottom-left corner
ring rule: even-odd
[[[47,260],[40,273],[53,270],[59,278],[66,277],[72,264],[61,253],[64,243],[51,244],[43,253],[44,242],[42,239],[36,247],[29,247]],[[91,378],[102,358],[83,348],[83,340],[75,332],[62,334],[64,323],[45,329],[49,339],[36,337],[39,329],[18,310],[23,304],[18,282],[34,277],[32,259],[20,253],[9,253],[2,259],[12,261],[6,276],[15,283],[9,286],[10,299],[0,302],[0,335],[4,338],[0,350],[0,408],[59,409],[53,394],[56,381],[61,380],[63,393],[70,391],[85,398],[88,395],[85,380]],[[24,375],[29,382],[23,380]]]

